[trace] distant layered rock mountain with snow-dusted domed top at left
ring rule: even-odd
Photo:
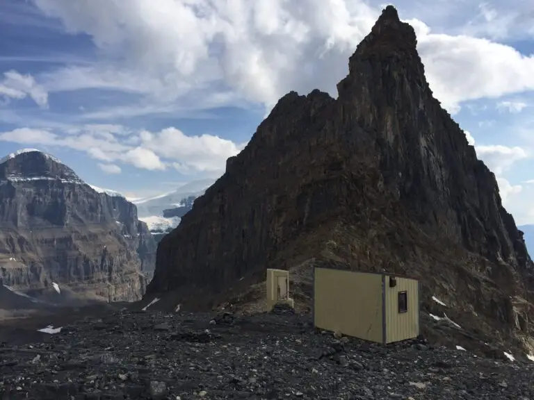
[[[0,164],[0,277],[17,290],[135,300],[154,269],[156,243],[136,206],[98,193],[40,151]]]

